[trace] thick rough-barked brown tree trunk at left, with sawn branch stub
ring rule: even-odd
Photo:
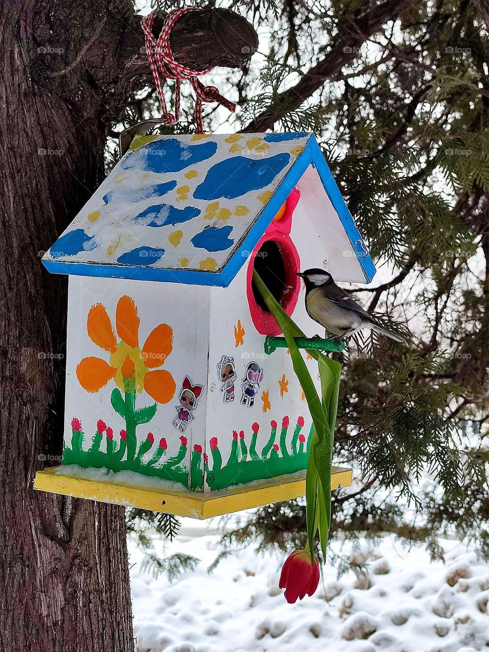
[[[150,79],[132,12],[128,0],[0,5],[2,652],[134,649],[124,508],[32,488],[46,457],[59,464],[65,375],[67,280],[40,255],[102,180],[108,129]],[[203,67],[250,56],[249,27],[240,57],[220,45],[219,17],[198,18],[175,34],[175,58],[180,43],[190,57],[190,29],[215,39],[194,57]]]

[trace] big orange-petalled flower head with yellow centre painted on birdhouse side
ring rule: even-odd
[[[133,299],[123,296],[115,309],[115,336],[110,317],[102,303],[93,305],[87,317],[89,338],[103,351],[109,361],[98,357],[83,358],[76,367],[76,377],[87,392],[98,392],[113,379],[119,389],[125,380],[134,379],[134,391],[143,390],[158,403],[168,403],[175,395],[173,376],[162,366],[173,348],[173,329],[159,324],[140,346],[141,319]]]

